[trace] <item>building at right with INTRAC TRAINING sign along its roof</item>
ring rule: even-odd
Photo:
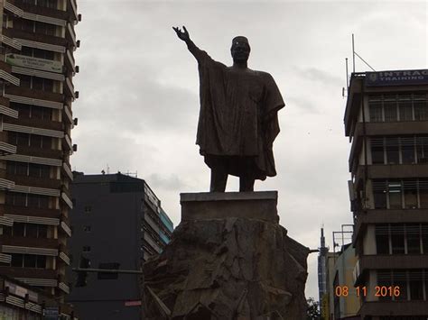
[[[426,69],[350,78],[344,120],[361,319],[428,316],[427,98]]]

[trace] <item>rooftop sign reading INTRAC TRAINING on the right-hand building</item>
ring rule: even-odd
[[[428,84],[428,69],[366,72],[366,86]]]

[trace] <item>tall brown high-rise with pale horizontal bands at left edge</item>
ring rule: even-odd
[[[2,0],[0,11],[0,274],[63,301],[80,16],[76,0]]]

